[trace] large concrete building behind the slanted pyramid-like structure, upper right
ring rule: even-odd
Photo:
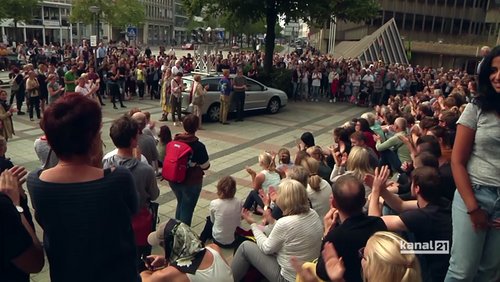
[[[394,18],[412,64],[471,73],[481,46],[500,44],[498,0],[380,0],[380,5],[378,16],[364,24],[339,21],[335,42],[360,40]],[[322,34],[317,42],[328,42],[333,33]]]

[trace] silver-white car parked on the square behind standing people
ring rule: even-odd
[[[209,121],[219,120],[220,111],[220,90],[219,81],[222,78],[221,75],[202,75],[201,84],[203,86],[208,84],[207,95],[205,96],[204,105],[202,108],[202,113],[206,115]],[[231,80],[234,75],[231,75]],[[284,91],[279,89],[267,87],[264,84],[246,77],[247,79],[247,90],[245,91],[245,111],[253,110],[267,110],[270,114],[275,114],[279,110],[286,106],[288,103],[288,96]],[[193,85],[193,75],[189,74],[182,77],[183,83],[186,86],[186,90],[182,93],[182,112],[191,113],[193,107],[190,104],[190,93]],[[234,99],[231,99],[231,109],[230,112],[235,112],[236,106],[234,104]]]

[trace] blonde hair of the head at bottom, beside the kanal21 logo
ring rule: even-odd
[[[421,282],[418,258],[415,254],[401,254],[404,243],[403,238],[391,232],[373,234],[365,248],[364,281]]]

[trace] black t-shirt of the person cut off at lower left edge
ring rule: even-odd
[[[29,281],[29,274],[17,268],[12,260],[33,245],[21,216],[7,195],[0,193],[0,262],[1,281]]]

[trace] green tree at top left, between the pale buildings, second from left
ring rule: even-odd
[[[99,7],[100,19],[116,27],[139,26],[144,22],[145,7],[140,0],[74,0],[71,21],[93,23],[94,14],[89,11],[91,6]]]

